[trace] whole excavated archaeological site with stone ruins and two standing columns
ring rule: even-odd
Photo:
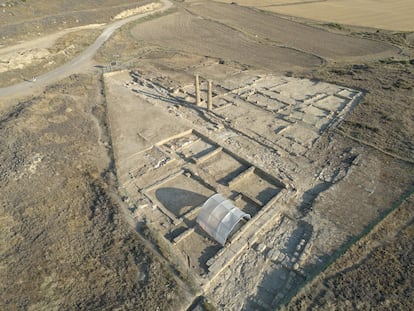
[[[329,246],[317,246],[324,237],[307,209],[369,165],[354,148],[334,168],[308,156],[364,92],[220,63],[173,76],[121,70],[104,81],[119,189],[137,230],[229,309],[283,303]]]

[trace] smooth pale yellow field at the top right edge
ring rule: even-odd
[[[221,2],[233,1],[221,0]],[[239,5],[318,21],[395,31],[414,31],[414,1],[412,0],[326,0],[320,2],[238,0],[235,2]]]

